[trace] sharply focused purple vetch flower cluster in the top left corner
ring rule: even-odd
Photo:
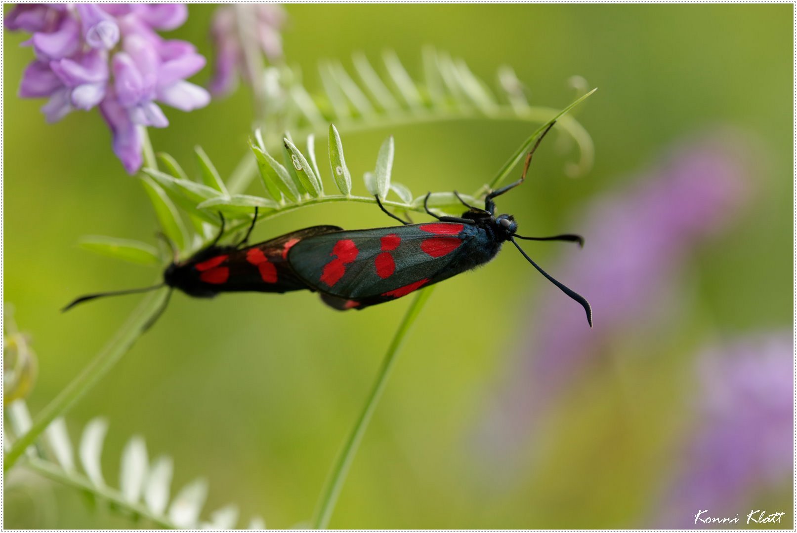
[[[139,126],[166,127],[156,102],[181,111],[210,102],[205,89],[186,82],[205,58],[185,41],[166,41],[155,30],[186,21],[182,4],[22,4],[6,29],[33,33],[23,43],[36,60],[22,75],[22,98],[49,98],[48,122],[74,109],[99,106],[113,134],[113,150],[128,173],[142,164]]]

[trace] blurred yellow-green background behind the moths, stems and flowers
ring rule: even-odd
[[[206,36],[213,10],[190,6],[186,25],[172,35],[212,56]],[[574,91],[567,79],[573,75],[598,87],[576,114],[595,142],[591,172],[567,178],[563,167],[573,155],[541,150],[534,179],[501,198],[499,209],[514,213],[527,234],[578,230],[589,242],[590,228],[572,227],[579,209],[627,185],[672,142],[716,125],[736,126],[758,139],[764,161],[743,223],[689,260],[690,303],[705,320],[685,320],[677,341],[669,343],[671,353],[657,352],[660,359],[630,371],[634,379],[651,379],[646,372],[655,368],[657,383],[667,383],[640,391],[639,401],[652,406],[648,422],[662,422],[658,431],[630,428],[636,444],[623,449],[622,457],[607,459],[604,453],[613,454],[605,449],[601,428],[616,426],[625,414],[595,407],[611,396],[611,383],[591,383],[590,415],[582,403],[570,401],[548,428],[544,468],[540,461],[520,461],[516,474],[523,481],[500,497],[487,496],[493,480],[481,477],[479,453],[466,441],[520,350],[518,332],[528,328],[534,298],[556,290],[506,251],[489,267],[435,290],[406,341],[331,523],[645,526],[657,480],[670,468],[668,461],[651,460],[657,457],[651,449],[683,437],[670,430],[680,427],[673,419],[688,415],[683,403],[689,380],[680,379],[686,367],[665,361],[689,360],[709,337],[791,328],[792,6],[286,10],[285,54],[304,69],[308,88],[319,86],[316,61],[340,58],[349,64],[354,51],[375,59],[381,50],[395,49],[418,75],[426,44],[464,58],[488,80],[500,64],[512,65],[531,89],[532,105],[569,103]],[[46,125],[38,111],[43,101],[18,99],[22,69],[32,56],[19,48],[23,38],[4,33],[4,298],[14,305],[39,358],[29,396],[35,414],[88,364],[136,297],[65,315],[58,309],[79,294],[145,286],[157,275],[81,251],[77,239],[115,235],[155,243],[156,221],[140,185],[112,154],[96,112]],[[198,83],[208,70],[197,76]],[[186,169],[194,145],[204,147],[222,175],[245,153],[251,123],[245,88],[189,114],[165,111],[171,126],[151,133],[155,150],[171,153]],[[476,189],[531,131],[523,123],[468,120],[341,134],[361,192],[362,173],[393,134],[394,179],[421,193]],[[321,168],[328,175],[323,159]],[[254,237],[313,224],[367,228],[385,220],[371,205],[330,204],[262,224]],[[539,246],[533,253],[556,274],[560,250]],[[112,485],[124,443],[141,434],[151,457],[175,458],[174,488],[198,476],[210,480],[208,509],[235,503],[243,517],[261,514],[269,527],[306,523],[409,302],[336,313],[313,294],[235,294],[212,301],[176,294],[155,328],[69,412],[70,432],[77,440],[90,418],[108,418],[104,467]],[[597,324],[600,313],[595,309]],[[612,463],[617,468],[599,465],[607,460],[618,461]],[[791,471],[791,465],[784,468]],[[638,483],[639,477],[646,482],[628,494],[630,480]],[[773,511],[791,508],[791,477],[771,491]],[[79,493],[49,482],[16,491],[6,486],[5,525],[130,525],[81,501]]]

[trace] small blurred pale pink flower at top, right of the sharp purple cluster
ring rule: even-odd
[[[244,23],[246,26],[241,27]],[[210,38],[216,49],[210,91],[214,95],[226,95],[234,91],[238,85],[238,72],[251,83],[242,44],[245,40],[257,42],[269,61],[280,59],[280,30],[284,24],[285,11],[274,4],[219,7],[210,25]]]

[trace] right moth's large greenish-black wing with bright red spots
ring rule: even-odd
[[[288,260],[328,305],[363,309],[487,263],[498,247],[476,225],[434,222],[315,235]]]

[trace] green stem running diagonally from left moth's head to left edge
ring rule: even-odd
[[[3,461],[3,472],[7,472],[14,463],[17,462],[22,453],[38,436],[47,429],[50,422],[64,414],[69,407],[72,407],[90,388],[113,368],[118,360],[128,352],[136,340],[139,340],[144,327],[155,316],[163,304],[166,291],[159,290],[154,294],[148,294],[143,302],[133,311],[128,321],[116,333],[116,336],[106,344],[105,348],[97,354],[88,367],[80,372],[77,378],[73,379],[56,397],[37,415],[33,426],[22,437],[14,442],[9,453]]]

